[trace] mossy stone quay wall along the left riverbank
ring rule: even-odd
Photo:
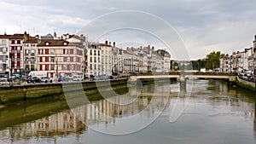
[[[9,105],[20,105],[24,102],[45,99],[57,96],[57,99],[66,99],[64,94],[76,95],[77,92],[84,90],[84,95],[89,96],[89,101],[98,100],[101,97],[91,97],[101,91],[114,90],[117,94],[127,91],[127,78],[113,79],[105,81],[90,81],[83,83],[57,83],[57,84],[30,84],[22,86],[0,87],[0,108]],[[110,89],[111,88],[111,89]]]

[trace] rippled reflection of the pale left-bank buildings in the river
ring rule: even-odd
[[[134,91],[133,91],[134,93]],[[152,94],[153,95],[153,94]],[[19,124],[0,131],[0,137],[9,139],[29,139],[31,137],[55,137],[79,135],[88,130],[90,124],[115,123],[116,118],[129,117],[147,111],[148,117],[155,110],[164,107],[168,98],[159,96],[119,95],[101,101],[93,101],[72,110],[51,113],[38,120]]]

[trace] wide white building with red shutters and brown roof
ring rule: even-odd
[[[38,70],[50,78],[82,75],[84,46],[63,39],[44,39],[38,43]]]

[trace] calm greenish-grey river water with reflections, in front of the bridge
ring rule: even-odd
[[[253,92],[218,80],[131,84],[125,95],[78,107],[56,101],[0,112],[1,144],[256,143]]]

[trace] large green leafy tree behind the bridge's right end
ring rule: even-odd
[[[210,54],[207,55],[206,61],[207,61],[207,65],[206,68],[207,70],[212,69],[214,70],[214,68],[219,66],[219,58],[220,58],[220,52],[211,52]]]

